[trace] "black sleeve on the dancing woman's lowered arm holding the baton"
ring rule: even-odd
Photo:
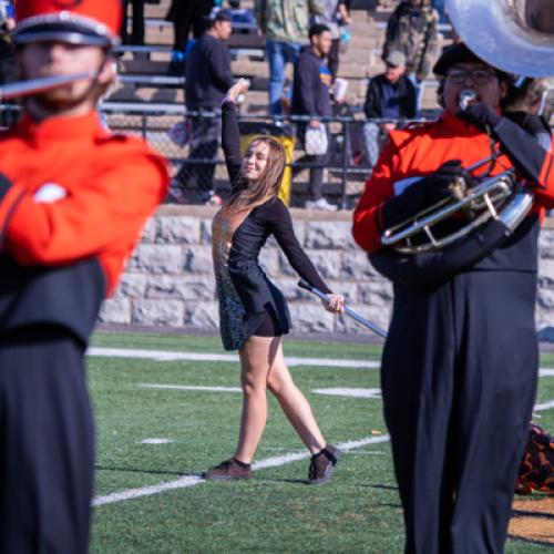
[[[321,279],[314,264],[298,243],[293,228],[290,213],[285,204],[280,199],[270,202],[259,208],[257,217],[263,220],[264,225],[275,236],[295,271],[312,287],[330,294],[331,290],[325,284],[324,279]]]

